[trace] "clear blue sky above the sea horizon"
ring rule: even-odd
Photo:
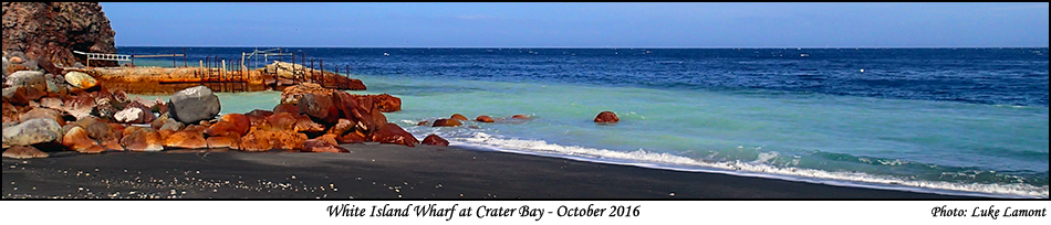
[[[1048,46],[1048,2],[102,2],[118,46]]]

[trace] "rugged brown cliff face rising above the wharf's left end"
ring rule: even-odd
[[[116,53],[110,20],[98,2],[3,2],[3,51],[45,57],[65,66],[85,64],[73,51]],[[115,62],[92,62],[113,66]]]

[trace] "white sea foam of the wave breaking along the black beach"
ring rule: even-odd
[[[636,167],[691,172],[715,172],[743,176],[772,178],[831,185],[875,188],[926,193],[947,193],[991,197],[1040,197],[1047,199],[1048,186],[1029,184],[982,184],[950,183],[941,181],[914,181],[886,175],[873,175],[862,172],[823,171],[768,164],[777,152],[763,152],[750,162],[703,161],[668,153],[635,151],[615,151],[579,146],[561,146],[543,140],[522,140],[502,138],[485,132],[475,132],[467,138],[449,140],[454,146],[478,147],[488,150],[514,152],[534,156],[569,158],[581,161],[628,164]],[[886,162],[881,162],[886,163]],[[901,163],[901,162],[889,162]]]

